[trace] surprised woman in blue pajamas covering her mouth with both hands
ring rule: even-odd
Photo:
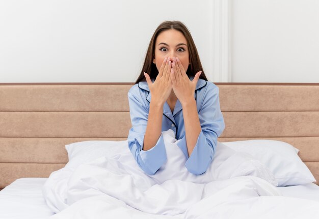
[[[128,147],[153,175],[165,163],[162,131],[172,129],[190,173],[204,173],[225,128],[219,89],[207,81],[193,38],[180,21],[155,30],[136,83],[128,92],[132,128]]]

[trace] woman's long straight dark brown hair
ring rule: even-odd
[[[171,30],[171,29],[174,29],[182,33],[187,40],[189,55],[190,55],[190,66],[188,67],[186,74],[190,77],[190,76],[195,76],[197,72],[202,71],[199,78],[207,80],[202,64],[199,60],[197,48],[195,46],[195,43],[190,31],[182,22],[173,20],[173,21],[164,21],[163,23],[159,24],[159,26],[155,30],[151,38],[151,41],[149,42],[149,45],[148,45],[142,71],[138,79],[135,81],[135,84],[138,84],[140,81],[145,80],[145,76],[143,72],[148,73],[150,78],[152,79],[156,78],[158,74],[158,70],[156,68],[156,65],[152,62],[155,56],[155,51],[154,51],[155,42],[156,42],[157,36],[160,33],[162,33],[163,31]]]

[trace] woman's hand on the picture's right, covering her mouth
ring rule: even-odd
[[[180,60],[177,57],[173,58],[170,76],[172,80],[172,89],[182,105],[194,99],[196,84],[201,73],[202,71],[197,72],[194,79],[191,81]]]

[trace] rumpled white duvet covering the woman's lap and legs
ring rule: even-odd
[[[283,197],[267,167],[219,143],[199,176],[174,132],[163,132],[167,162],[146,175],[128,148],[50,175],[43,187],[54,218],[315,218],[319,202]]]

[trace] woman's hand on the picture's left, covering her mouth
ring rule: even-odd
[[[170,73],[172,70],[172,62],[170,58],[165,58],[154,83],[150,76],[144,72],[148,88],[151,92],[151,101],[156,104],[164,105],[172,91],[172,80]]]

